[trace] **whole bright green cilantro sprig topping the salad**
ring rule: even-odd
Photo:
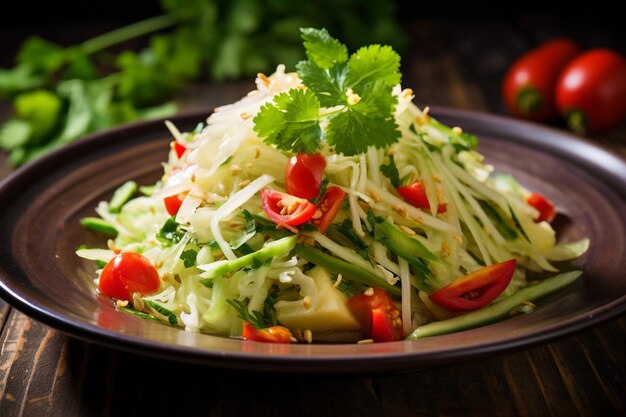
[[[400,56],[381,45],[348,56],[347,47],[326,29],[300,31],[308,59],[296,68],[306,88],[279,94],[261,107],[254,118],[259,137],[297,153],[317,152],[325,141],[344,155],[397,142],[392,88],[402,77]]]

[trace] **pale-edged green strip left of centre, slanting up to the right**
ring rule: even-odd
[[[291,235],[289,237],[284,237],[274,242],[270,242],[256,252],[252,252],[251,254],[244,255],[233,260],[223,260],[212,262],[210,264],[198,265],[198,268],[204,271],[200,276],[205,278],[205,280],[202,280],[201,282],[206,281],[206,278],[215,278],[223,276],[229,272],[237,271],[241,268],[245,268],[246,266],[250,266],[255,262],[263,263],[275,256],[284,256],[288,254],[296,245],[296,237],[296,235]]]

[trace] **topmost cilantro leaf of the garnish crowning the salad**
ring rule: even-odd
[[[348,48],[330,36],[326,29],[303,28],[300,32],[307,57],[318,67],[329,69],[348,60]]]

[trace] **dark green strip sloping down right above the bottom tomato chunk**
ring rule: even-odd
[[[313,262],[315,265],[322,266],[329,271],[341,274],[347,279],[361,282],[372,287],[383,288],[392,295],[402,295],[402,290],[400,288],[394,287],[378,275],[375,275],[372,272],[349,262],[327,255],[322,251],[304,245],[296,245],[296,251],[298,252],[298,256]]]

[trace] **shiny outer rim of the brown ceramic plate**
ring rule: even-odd
[[[465,121],[473,121],[473,123],[481,122],[481,124],[489,124],[490,128],[494,127],[494,135],[498,137],[503,133],[511,131],[511,126],[517,127],[515,131],[517,133],[509,135],[512,138],[518,138],[519,141],[524,143],[537,143],[538,140],[535,136],[536,133],[531,135],[526,133],[527,131],[544,132],[549,137],[557,136],[566,138],[568,143],[577,143],[576,152],[566,146],[568,143],[561,143],[560,141],[542,142],[542,148],[546,149],[550,153],[558,153],[560,156],[563,154],[570,155],[572,158],[581,157],[581,154],[594,152],[602,155],[610,163],[608,167],[598,167],[609,170],[614,177],[620,178],[621,186],[626,184],[626,158],[622,158],[620,155],[616,155],[611,152],[607,147],[594,143],[590,139],[574,135],[570,132],[563,131],[554,127],[539,125],[533,122],[513,119],[511,117],[496,115],[491,113],[485,113],[474,110],[465,110],[458,108],[451,108],[445,106],[430,106],[431,114],[436,117],[453,117],[462,119]],[[6,178],[0,181],[0,196],[10,193],[14,187],[19,186],[19,183],[28,182],[29,178],[41,177],[42,170],[55,169],[63,165],[63,160],[67,160],[72,155],[88,156],[90,152],[95,152],[94,149],[114,148],[122,141],[122,134],[132,136],[135,131],[143,132],[143,136],[146,136],[147,131],[154,131],[157,128],[162,128],[165,120],[171,120],[174,124],[193,124],[200,120],[205,120],[208,115],[212,113],[212,110],[200,110],[181,112],[177,115],[168,118],[159,118],[145,121],[137,121],[120,125],[111,129],[103,130],[100,132],[92,133],[83,138],[80,138],[64,147],[56,149],[37,160],[34,160],[17,170],[13,171]],[[463,126],[467,131],[471,131],[470,127]],[[498,131],[500,129],[500,131]],[[490,129],[492,132],[492,129]],[[112,136],[120,136],[111,143]],[[141,135],[139,135],[141,136]],[[523,138],[523,140],[522,140]],[[530,138],[530,139],[529,139]],[[150,141],[154,139],[135,139],[133,144],[140,143],[142,141]],[[575,159],[575,158],[574,158]],[[587,160],[587,158],[583,158]],[[613,180],[614,177],[611,177]],[[625,188],[626,190],[626,188]],[[0,272],[2,272],[2,265],[0,265]],[[10,281],[10,280],[9,280]],[[394,353],[394,355],[376,356],[374,354],[358,355],[354,358],[346,358],[345,356],[329,357],[329,356],[307,356],[307,355],[266,355],[266,354],[251,354],[246,352],[224,352],[219,350],[206,350],[202,348],[193,348],[185,345],[173,345],[162,343],[152,339],[145,339],[140,337],[128,336],[120,333],[115,333],[111,330],[100,328],[96,325],[92,325],[85,322],[79,322],[71,317],[57,314],[57,312],[51,312],[45,310],[45,308],[34,305],[29,300],[25,299],[19,291],[12,288],[5,280],[3,276],[0,276],[0,297],[6,301],[12,307],[15,307],[18,311],[26,314],[35,320],[44,323],[52,328],[55,328],[68,336],[73,336],[86,342],[93,342],[99,345],[107,346],[113,349],[119,349],[127,352],[138,353],[142,355],[148,355],[153,357],[165,358],[172,360],[172,350],[184,352],[186,354],[184,362],[192,362],[197,364],[204,364],[210,366],[226,367],[231,369],[246,369],[257,371],[281,371],[281,372],[307,372],[307,373],[328,373],[325,367],[320,367],[320,362],[328,364],[332,369],[338,373],[351,373],[351,374],[372,374],[377,372],[397,372],[405,370],[413,370],[407,366],[407,362],[411,362],[411,358],[416,356],[416,353],[406,352],[404,354]],[[579,333],[583,330],[595,327],[601,323],[607,322],[611,319],[618,317],[626,312],[626,295],[619,297],[612,302],[598,307],[592,311],[587,311],[588,317],[586,320],[574,320],[578,316],[568,320],[567,326],[563,326],[561,322],[557,325],[553,325],[543,329],[542,331],[533,333],[530,337],[525,336],[523,339],[520,337],[509,338],[492,343],[489,345],[477,345],[473,347],[464,347],[461,349],[447,349],[446,355],[443,357],[437,355],[437,352],[428,352],[428,354],[419,353],[420,362],[427,359],[429,365],[424,367],[430,367],[457,363],[470,358],[481,358],[490,354],[503,354],[520,349],[526,349],[541,343],[547,343],[550,341],[558,340],[560,338]],[[182,330],[184,331],[184,330]],[[397,342],[404,343],[404,342]],[[170,353],[170,355],[168,355]],[[180,355],[178,355],[180,356]],[[181,360],[180,358],[176,358]],[[367,369],[359,368],[356,364],[362,364],[364,361],[368,362]],[[422,366],[418,367],[421,368]]]

